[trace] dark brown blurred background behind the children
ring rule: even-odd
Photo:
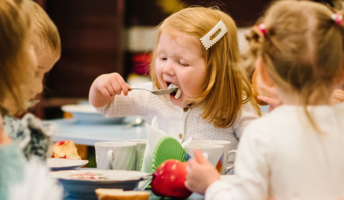
[[[218,5],[243,30],[254,25],[271,0],[36,0],[56,24],[62,56],[45,79],[41,102],[33,112],[45,119],[62,117],[63,104],[87,100],[93,80],[118,72],[137,80],[147,76],[155,43],[154,26],[190,5]],[[240,36],[241,35],[241,36]],[[137,79],[136,79],[137,78]],[[129,80],[128,80],[129,81]]]

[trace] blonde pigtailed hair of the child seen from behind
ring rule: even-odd
[[[307,105],[319,100],[328,103],[329,87],[344,72],[344,29],[331,19],[332,14],[320,3],[282,0],[274,3],[264,16],[266,35],[257,27],[247,35],[251,49],[259,52],[273,82],[281,89],[297,92],[317,132],[320,130]]]

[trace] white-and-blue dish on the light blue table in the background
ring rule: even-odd
[[[97,123],[97,124],[119,124],[122,123],[124,117],[106,118],[91,104],[70,104],[63,105],[61,110],[70,112],[78,123]]]

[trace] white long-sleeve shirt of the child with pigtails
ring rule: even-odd
[[[344,103],[309,108],[323,133],[302,107],[276,108],[244,130],[235,183],[214,182],[206,200],[344,199]]]

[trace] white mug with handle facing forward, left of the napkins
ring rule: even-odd
[[[96,142],[97,169],[134,170],[135,142]]]

